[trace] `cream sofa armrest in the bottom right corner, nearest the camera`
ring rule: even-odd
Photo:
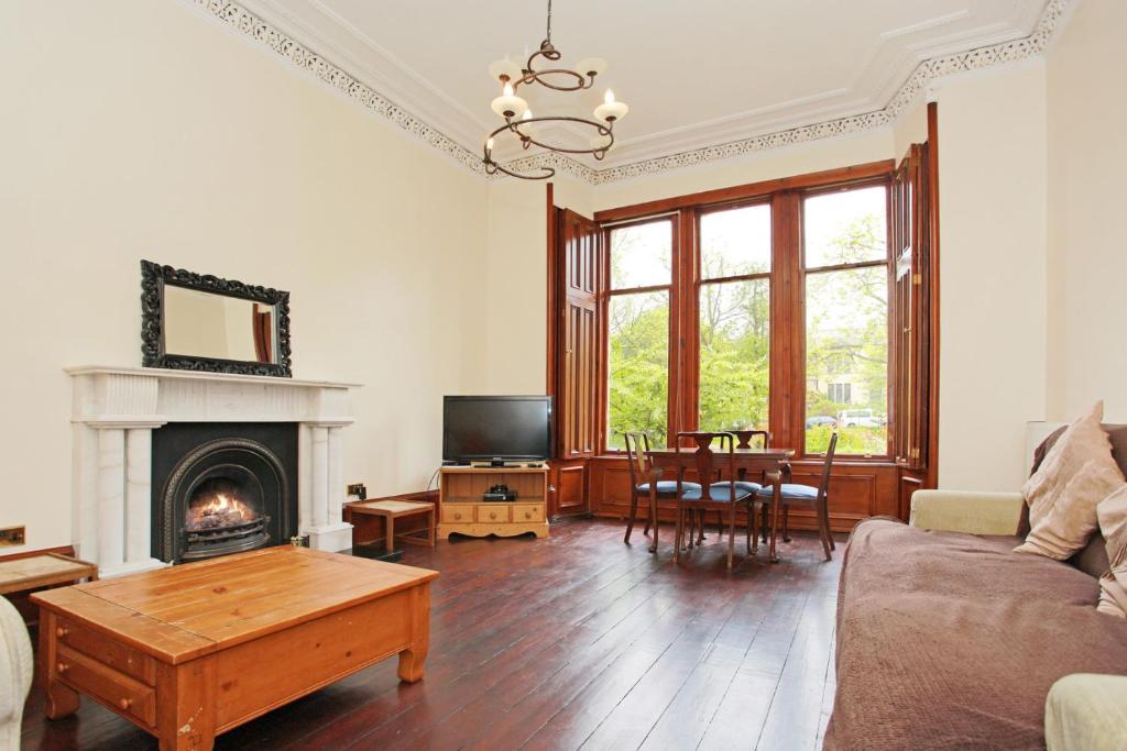
[[[1127,748],[1127,676],[1073,673],[1045,699],[1048,751]]]

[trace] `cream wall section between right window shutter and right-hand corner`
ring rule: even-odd
[[[1046,96],[1038,59],[938,89],[939,485],[1017,490],[1046,402]]]

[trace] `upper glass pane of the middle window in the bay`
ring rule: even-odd
[[[701,276],[717,279],[771,270],[771,206],[701,216]]]

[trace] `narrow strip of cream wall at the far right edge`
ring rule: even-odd
[[[1106,419],[1127,422],[1125,29],[1127,3],[1084,0],[1048,57],[1051,420],[1103,399]]]

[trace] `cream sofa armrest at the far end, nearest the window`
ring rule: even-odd
[[[917,490],[908,524],[937,531],[1017,535],[1024,502],[1021,493]]]

